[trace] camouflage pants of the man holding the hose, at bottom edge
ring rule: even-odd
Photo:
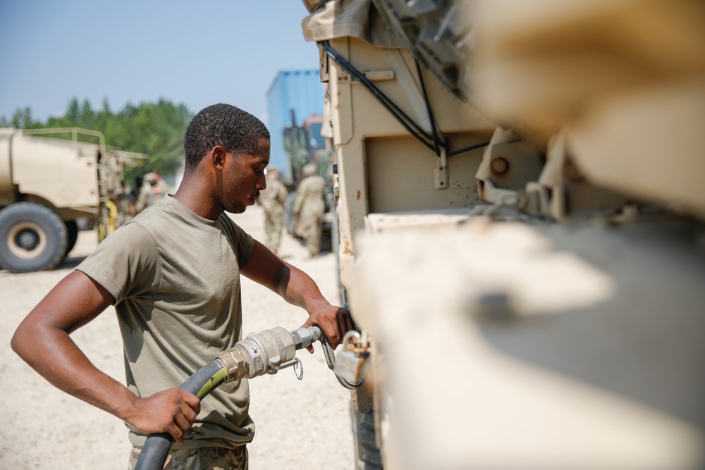
[[[128,470],[134,470],[141,449],[133,447],[130,452]],[[164,470],[247,470],[247,447],[202,447],[201,449],[177,449],[169,452]]]

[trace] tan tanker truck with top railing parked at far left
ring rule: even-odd
[[[46,137],[56,133],[72,140]],[[80,142],[79,135],[99,143]],[[73,249],[79,221],[108,223],[104,203],[121,193],[125,158],[127,152],[106,150],[93,130],[0,129],[0,268],[55,268]]]

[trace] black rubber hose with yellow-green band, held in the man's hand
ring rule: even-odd
[[[202,399],[223,383],[227,375],[226,366],[216,359],[195,371],[179,388]],[[163,469],[172,442],[173,437],[169,433],[149,434],[145,447],[142,447],[140,457],[137,458],[135,470]]]

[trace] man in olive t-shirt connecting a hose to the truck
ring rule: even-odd
[[[169,433],[176,447],[165,468],[247,470],[245,446],[255,436],[247,381],[223,384],[203,402],[176,388],[241,338],[240,275],[305,309],[303,326],[320,326],[333,348],[353,324],[312,278],[226,214],[245,212],[266,186],[264,124],[235,106],[209,106],[188,125],[184,150],[176,194],[98,245],[32,309],[11,345],[49,382],[127,424],[130,468],[147,435]],[[97,369],[70,336],[111,305],[126,385]]]

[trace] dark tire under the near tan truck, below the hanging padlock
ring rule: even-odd
[[[372,395],[364,387],[363,384],[351,392],[350,415],[353,419],[355,440],[355,470],[381,470],[382,459],[374,430]]]

